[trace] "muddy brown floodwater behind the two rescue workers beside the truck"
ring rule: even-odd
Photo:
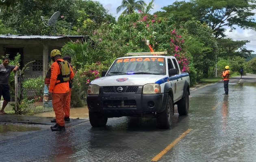
[[[37,117],[55,117],[54,111],[47,111],[43,113],[37,113],[34,116]],[[85,107],[76,107],[70,108],[70,116],[71,119],[89,119],[89,112],[87,106]]]

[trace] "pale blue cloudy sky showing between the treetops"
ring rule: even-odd
[[[116,19],[119,17],[119,15],[122,13],[119,12],[118,14],[116,13],[116,9],[118,6],[121,5],[122,0],[93,0],[93,1],[98,1],[100,2],[105,9],[108,10],[108,13],[112,14]],[[168,6],[173,4],[176,0],[154,0],[154,9],[151,9],[150,13],[153,14],[156,11],[162,11],[162,7]],[[185,0],[189,1],[189,0]],[[149,4],[151,0],[144,0],[146,4]],[[255,11],[256,13],[256,11]],[[255,15],[256,19],[256,15]],[[227,35],[227,38],[231,38],[233,40],[250,40],[250,43],[247,43],[245,47],[247,50],[253,50],[256,53],[256,31],[254,30],[243,30],[239,27],[236,28],[236,30],[233,30],[232,32],[229,32],[230,28],[226,28],[225,34]]]

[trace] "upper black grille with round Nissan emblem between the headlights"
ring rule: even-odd
[[[139,86],[109,86],[103,87],[104,93],[136,93]]]

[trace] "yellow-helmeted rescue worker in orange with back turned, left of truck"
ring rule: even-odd
[[[56,117],[56,124],[51,126],[51,130],[65,131],[64,107],[69,95],[69,80],[73,79],[74,73],[68,62],[61,58],[58,49],[52,50],[50,55],[54,62],[51,66],[49,94]]]

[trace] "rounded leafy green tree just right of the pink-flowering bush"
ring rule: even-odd
[[[184,42],[188,52],[192,55],[192,62],[198,77],[208,77],[209,68],[216,63],[218,51],[213,31],[200,21],[183,23],[180,32],[184,34]]]

